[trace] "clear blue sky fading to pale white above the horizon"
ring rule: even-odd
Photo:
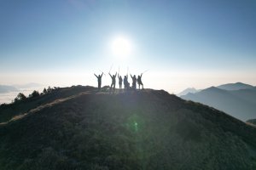
[[[123,38],[128,54],[116,54]],[[177,94],[256,86],[255,0],[0,0],[0,84],[96,86],[143,74]],[[131,82],[131,78],[129,79]]]

